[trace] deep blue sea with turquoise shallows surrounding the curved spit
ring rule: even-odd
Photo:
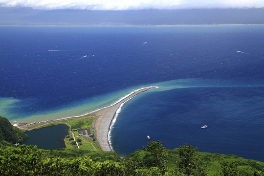
[[[264,25],[1,26],[0,116],[11,123],[88,113],[135,89],[113,149],[167,149],[264,161]],[[200,127],[207,125],[207,129]]]

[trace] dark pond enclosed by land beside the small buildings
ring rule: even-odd
[[[61,124],[26,132],[28,138],[22,144],[37,145],[39,149],[52,150],[65,148],[64,137],[69,127]]]

